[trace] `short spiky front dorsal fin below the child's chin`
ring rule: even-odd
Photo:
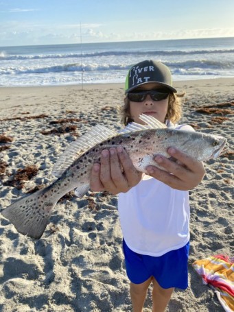
[[[119,132],[119,133],[124,134],[124,133],[128,133],[128,132],[135,132],[135,131],[148,130],[148,129],[167,128],[165,123],[161,123],[161,121],[155,119],[152,116],[141,114],[139,116],[139,119],[144,121],[144,123],[146,123],[146,125],[141,125],[140,123],[135,123],[135,122],[128,123],[126,128],[121,130],[121,132]]]

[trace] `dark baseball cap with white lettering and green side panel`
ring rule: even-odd
[[[174,93],[177,92],[172,86],[172,74],[169,68],[154,60],[144,60],[130,67],[126,77],[125,92],[150,82],[160,84]]]

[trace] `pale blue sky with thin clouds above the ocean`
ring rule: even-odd
[[[234,0],[0,0],[0,47],[234,37]]]

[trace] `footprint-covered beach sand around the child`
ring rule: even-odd
[[[202,285],[191,264],[213,254],[234,256],[234,80],[176,82],[175,86],[187,92],[182,122],[225,136],[230,152],[205,163],[204,180],[189,192],[189,288],[176,289],[167,311],[221,312],[214,291]],[[1,142],[10,138],[0,144],[1,208],[36,185],[53,181],[51,169],[58,156],[92,125],[119,129],[116,112],[123,87],[0,88]],[[226,106],[217,110],[218,104]],[[216,110],[196,111],[207,106]],[[59,119],[67,121],[51,124]],[[25,169],[21,174],[26,176],[22,178],[19,169]],[[131,311],[116,196],[69,194],[57,204],[39,240],[20,235],[2,216],[0,221],[0,311]],[[151,311],[151,303],[149,291],[144,311]]]

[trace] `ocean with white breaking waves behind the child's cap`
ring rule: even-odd
[[[166,64],[174,81],[234,77],[234,38],[0,47],[0,86],[123,83],[145,59]]]

